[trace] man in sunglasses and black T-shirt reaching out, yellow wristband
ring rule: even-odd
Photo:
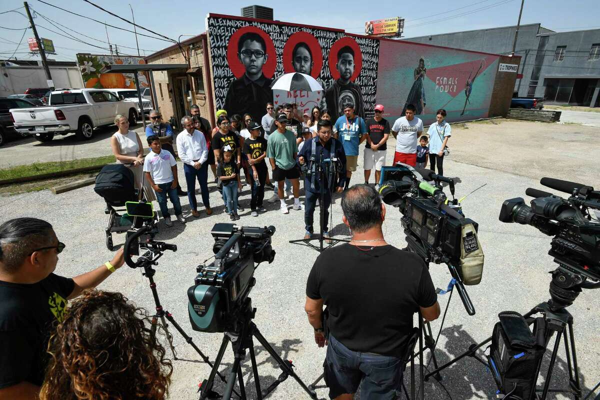
[[[37,399],[44,380],[47,343],[62,321],[67,300],[97,287],[123,263],[109,262],[77,275],[55,275],[65,248],[48,222],[14,218],[0,225],[0,400]]]

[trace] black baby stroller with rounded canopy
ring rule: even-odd
[[[125,201],[137,201],[139,192],[135,188],[133,172],[124,164],[104,166],[96,175],[94,191],[106,201],[104,213],[109,214],[109,224],[106,227],[106,247],[110,251],[115,251],[112,234],[127,232],[133,224],[133,219],[118,214],[118,211],[124,212],[125,209],[115,209],[115,207],[124,207]]]

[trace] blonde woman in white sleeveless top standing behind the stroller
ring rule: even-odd
[[[131,168],[136,179],[136,189],[143,187],[146,201],[156,200],[154,190],[144,179],[144,148],[142,140],[136,132],[129,130],[129,121],[126,116],[117,115],[115,125],[119,131],[110,138],[110,148],[118,164],[125,164]],[[140,191],[140,197],[142,191]]]

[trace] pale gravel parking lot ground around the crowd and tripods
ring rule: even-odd
[[[460,177],[461,183],[457,185],[459,197],[487,184],[467,197],[463,203],[466,215],[479,223],[479,240],[485,251],[484,277],[481,284],[468,287],[476,315],[467,315],[458,296],[453,296],[436,350],[440,364],[467,350],[472,342],[479,342],[490,336],[500,311],[513,310],[524,314],[548,299],[548,272],[556,267],[552,258],[547,255],[550,237],[530,226],[500,222],[498,214],[503,200],[524,197],[528,201],[524,194],[527,187],[552,191],[539,185],[542,176],[600,187],[597,157],[593,156],[600,154],[597,128],[500,120],[495,121],[495,124],[469,123],[467,127],[469,128],[464,129],[461,125],[453,127],[453,136],[449,141],[452,154],[445,161],[444,167],[445,175]],[[388,162],[392,160],[394,145],[395,140],[391,138]],[[2,152],[5,150],[2,149]],[[359,164],[362,165],[360,158]],[[183,176],[181,163],[179,174]],[[212,175],[209,173],[209,176]],[[362,181],[362,167],[359,165],[352,183]],[[201,212],[199,219],[190,217],[185,225],[174,222],[172,228],[165,228],[163,222],[160,222],[160,233],[156,239],[175,243],[178,251],[166,252],[159,260],[155,281],[164,308],[172,312],[200,349],[214,360],[223,336],[218,333],[193,332],[188,323],[186,294],[187,288],[193,285],[196,266],[212,256],[212,226],[216,222],[229,222],[229,218],[223,213],[223,201],[218,192],[214,185],[209,187],[214,215],[206,216]],[[277,227],[273,237],[273,248],[277,251],[275,261],[272,264],[261,264],[254,275],[257,284],[251,297],[253,306],[257,308],[255,322],[283,359],[293,360],[298,375],[307,384],[311,383],[322,372],[325,357],[325,350],[314,344],[313,329],[308,325],[304,313],[306,279],[318,253],[288,243],[288,240],[303,236],[304,212],[290,210],[289,215],[282,215],[278,204],[269,204],[269,212],[253,218],[248,210],[250,192],[247,186],[241,199],[246,210],[241,213],[239,224],[272,224]],[[0,201],[2,220],[17,216],[37,216],[54,225],[59,239],[67,243],[67,248],[61,254],[57,273],[73,276],[110,259],[111,253],[104,246],[104,228],[107,223],[107,216],[103,212],[104,202],[92,187],[60,195],[53,195],[49,191],[19,194],[1,197]],[[184,210],[189,209],[187,203],[187,199],[182,198]],[[157,204],[155,207],[158,208]],[[332,234],[346,237],[348,231],[341,222],[339,197],[334,201],[332,218]],[[383,228],[388,242],[404,247],[406,242],[400,218],[401,214],[388,206]],[[116,243],[122,243],[123,240],[123,235],[115,237]],[[445,288],[448,285],[450,275],[445,266],[431,264],[430,271],[437,287]],[[365,266],[365,273],[376,271]],[[154,310],[148,281],[140,270],[123,267],[100,288],[121,291],[137,305],[149,311]],[[597,368],[600,355],[600,338],[597,334],[600,325],[599,293],[584,290],[568,308],[575,320],[575,341],[584,395],[600,380]],[[448,294],[439,297],[442,309],[445,308],[448,297]],[[441,318],[431,324],[434,335],[440,329],[440,321]],[[197,384],[208,377],[210,368],[201,362],[200,357],[175,329],[171,329],[171,332],[178,356],[182,360],[173,362],[175,369],[169,398],[197,398]],[[163,344],[166,345],[164,339]],[[170,352],[167,351],[167,354]],[[262,347],[257,347],[263,387],[268,386],[280,374],[267,355]],[[225,372],[232,361],[232,352],[228,350],[221,371]],[[243,372],[247,380],[251,375],[250,357],[247,357],[243,365]],[[461,360],[443,371],[442,376],[442,383],[453,399],[494,398],[496,393],[490,373],[485,366],[473,359]],[[563,350],[559,352],[555,377],[556,384],[551,386],[566,385],[566,358]],[[217,390],[222,390],[220,381],[215,380],[215,383]],[[249,398],[256,398],[253,381],[247,384],[247,390]],[[327,397],[327,390],[323,387],[317,389],[317,393],[320,398]],[[434,380],[425,384],[425,393],[425,398],[449,398]],[[553,396],[548,398],[567,398],[563,395]],[[300,399],[308,396],[294,380],[288,379],[280,384],[270,398]]]

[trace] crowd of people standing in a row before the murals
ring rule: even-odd
[[[406,106],[405,115],[393,124],[383,118],[385,108],[382,104],[377,104],[373,118],[366,121],[355,113],[352,103],[345,104],[343,113],[332,121],[332,113],[327,109],[314,107],[310,115],[304,113],[300,116],[296,104],[275,107],[269,102],[260,123],[255,122],[250,114],[229,116],[226,110],[218,110],[216,126],[211,128],[209,121],[200,116],[200,108],[194,104],[190,115],[181,119],[184,130],[176,135],[176,140],[173,128],[163,121],[157,110],[151,111],[151,123],[145,128],[151,151],[145,158],[142,141],[137,133],[128,130],[124,116],[115,119],[119,131],[113,135],[111,145],[118,162],[133,168],[136,187],[142,189],[145,199],[158,201],[167,227],[172,225],[167,199],[173,205],[177,221],[182,224],[187,220],[178,196],[187,196],[191,216],[200,216],[196,182],[200,186],[204,212],[212,215],[208,187],[210,166],[214,183],[221,192],[224,212],[232,221],[239,219],[240,213],[245,210],[239,196],[246,185],[251,192],[251,216],[266,212],[263,204],[265,192],[272,190],[272,196],[266,201],[279,201],[282,213],[289,213],[290,207],[286,203],[289,200],[293,200],[292,210],[304,210],[305,238],[308,239],[313,234],[313,214],[320,196],[319,181],[323,178],[316,173],[307,175],[309,164],[322,163],[321,158],[311,159],[311,155],[329,155],[332,148],[337,160],[335,176],[332,179],[325,176],[330,183],[325,190],[325,209],[331,204],[332,194],[349,187],[352,173],[358,168],[363,142],[364,182],[369,184],[374,170],[376,190],[379,190],[381,169],[386,164],[390,134],[396,139],[392,164],[401,162],[426,167],[429,163],[432,170],[437,167],[437,173],[443,174],[443,159],[451,136],[445,110],[437,111],[437,121],[430,125],[427,135],[423,134],[423,122],[415,116],[416,107],[412,104]],[[316,148],[319,149],[318,154],[314,153]],[[176,157],[184,164],[187,191],[182,190],[179,184]],[[301,182],[304,182],[304,203],[300,201]],[[328,215],[327,211],[325,215]],[[327,226],[324,227],[324,235],[329,236]]]

